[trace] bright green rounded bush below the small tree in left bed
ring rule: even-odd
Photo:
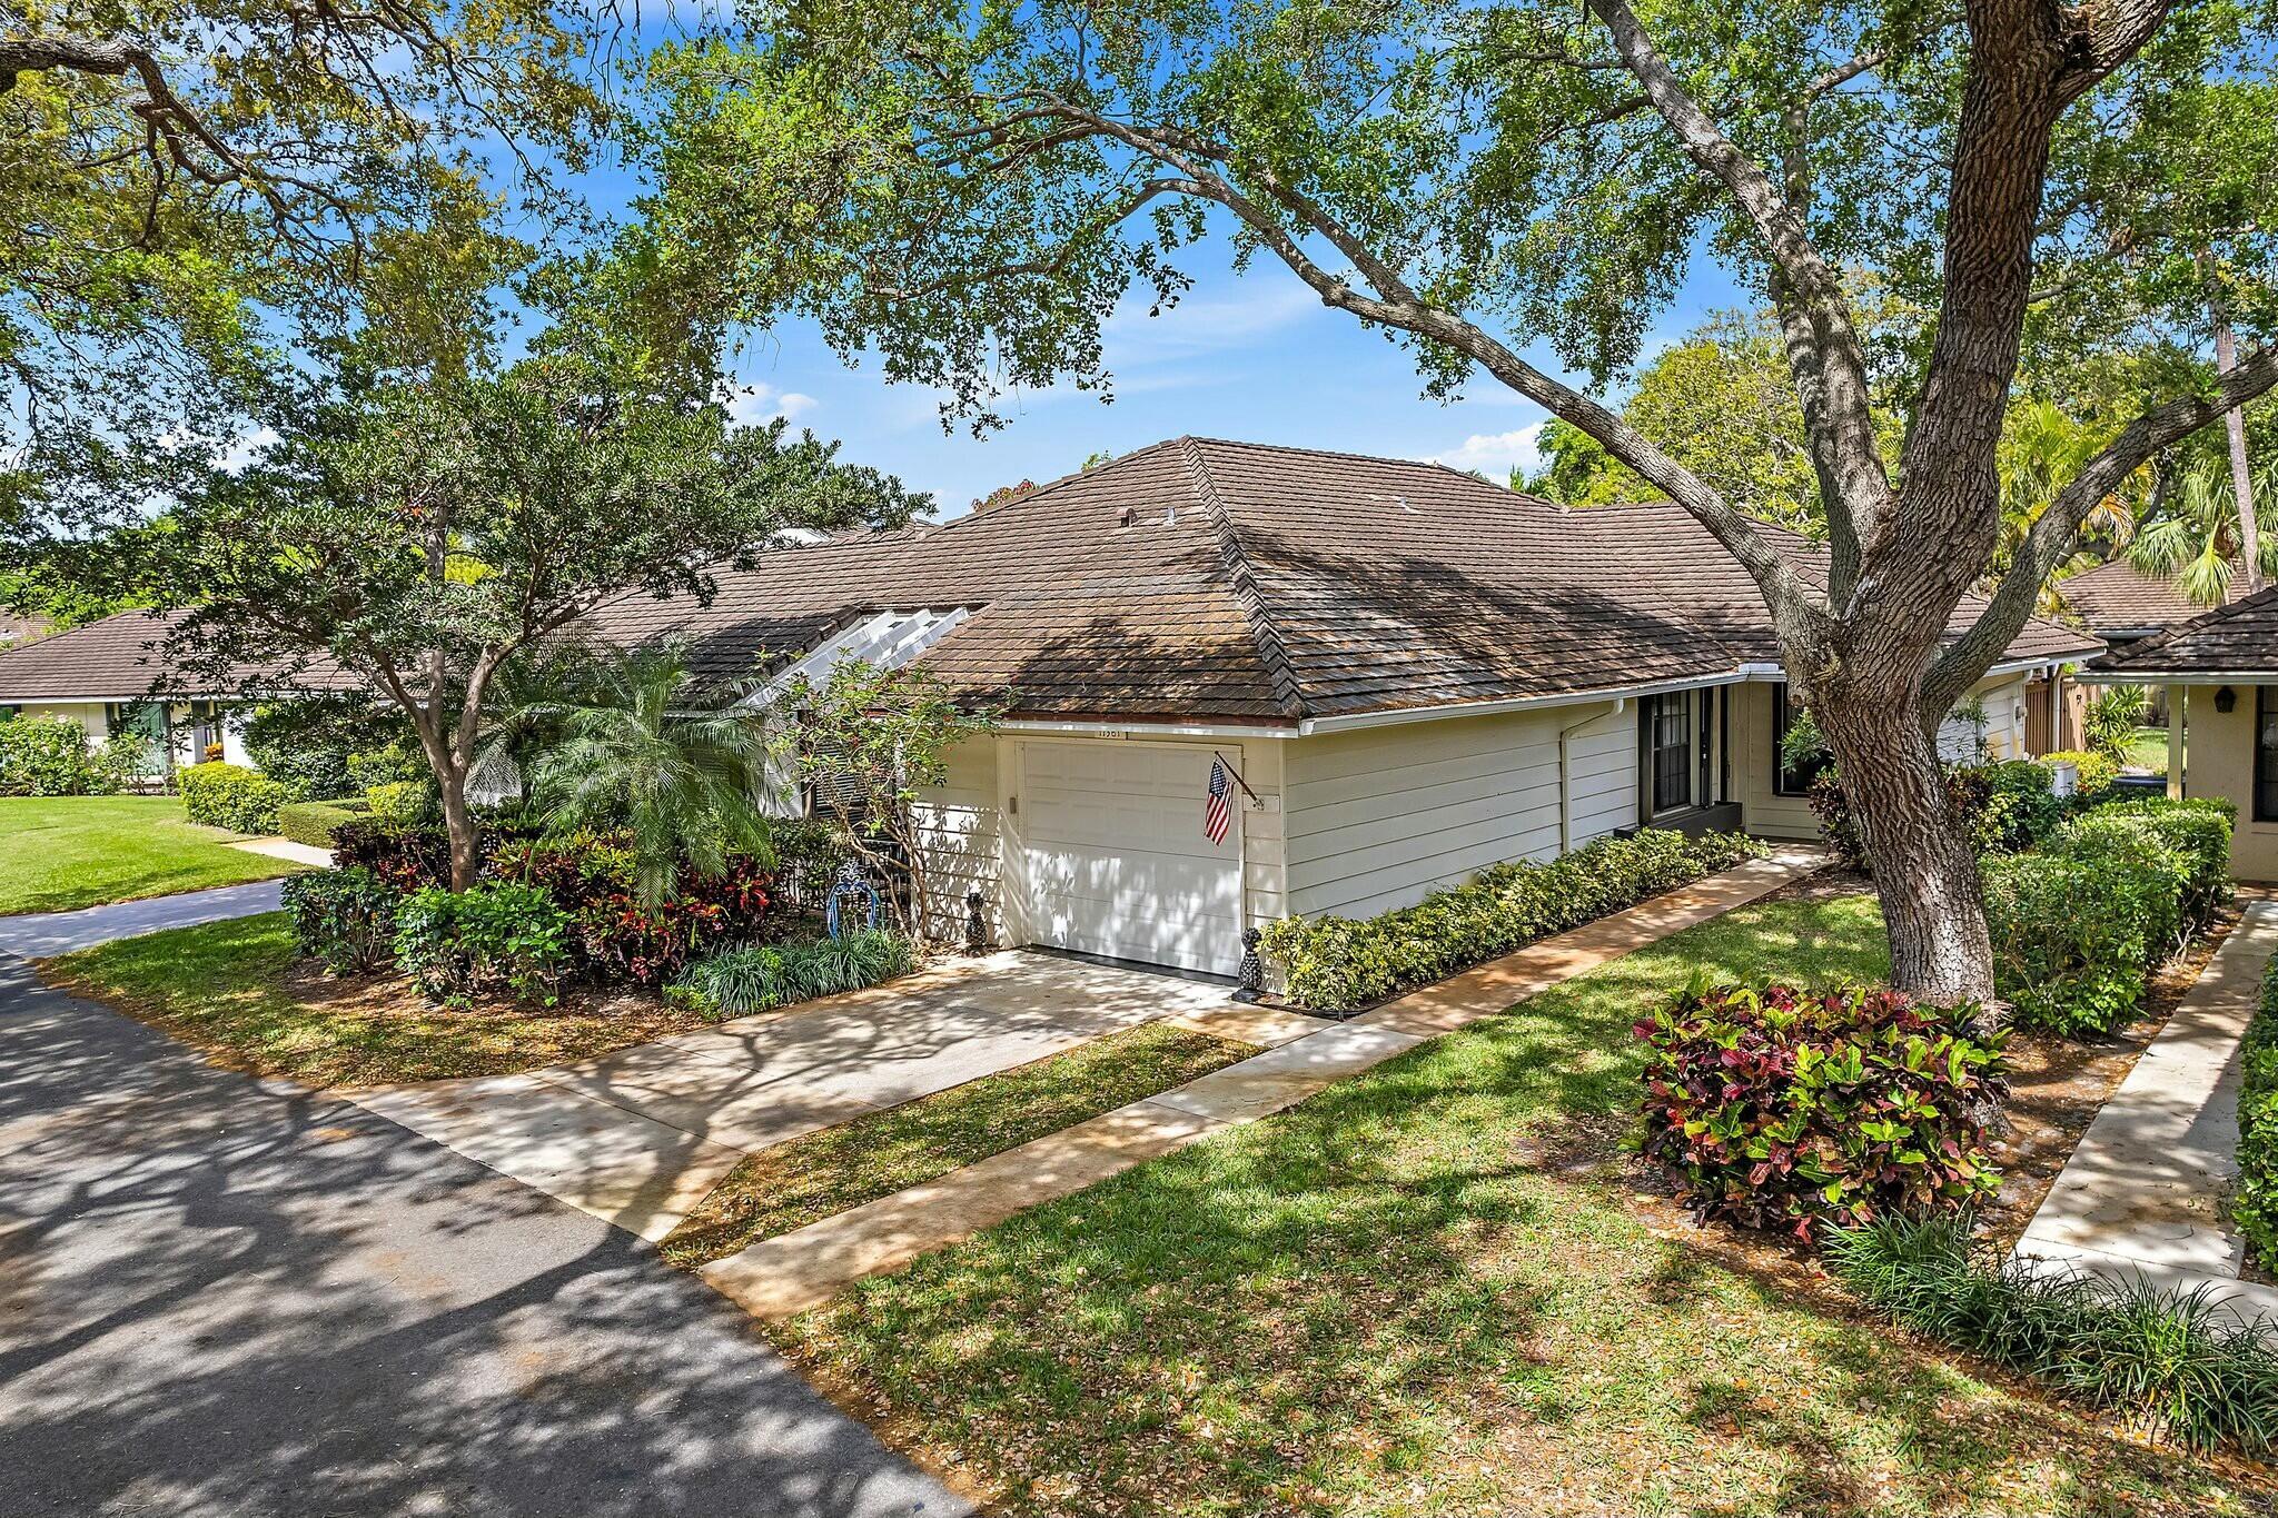
[[[417,890],[396,904],[396,967],[431,1001],[554,1006],[570,972],[570,915],[538,885]]]

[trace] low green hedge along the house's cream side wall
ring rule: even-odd
[[[1490,865],[1462,885],[1362,922],[1283,917],[1264,929],[1260,947],[1294,1004],[1351,1010],[1761,853],[1763,844],[1738,833],[1642,828],[1540,865]]]

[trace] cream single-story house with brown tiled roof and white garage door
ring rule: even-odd
[[[1818,831],[1779,765],[1770,617],[1693,517],[1440,464],[1182,437],[939,528],[765,553],[711,605],[629,594],[590,633],[679,637],[722,680],[918,660],[1000,701],[925,799],[936,899],[980,890],[1000,942],[1230,974],[1246,926],[1622,828]],[[2030,624],[1950,751],[2025,753],[2032,703],[2098,649]],[[0,701],[11,680],[0,655]]]

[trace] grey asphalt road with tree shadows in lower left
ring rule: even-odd
[[[0,1513],[964,1513],[722,1297],[0,956]]]

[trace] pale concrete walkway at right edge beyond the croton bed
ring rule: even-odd
[[[2016,1245],[2050,1270],[2205,1288],[2278,1325],[2278,1290],[2239,1281],[2226,1193],[2239,1172],[2239,1038],[2278,951],[2278,901],[2255,901],[2112,1092]]]

